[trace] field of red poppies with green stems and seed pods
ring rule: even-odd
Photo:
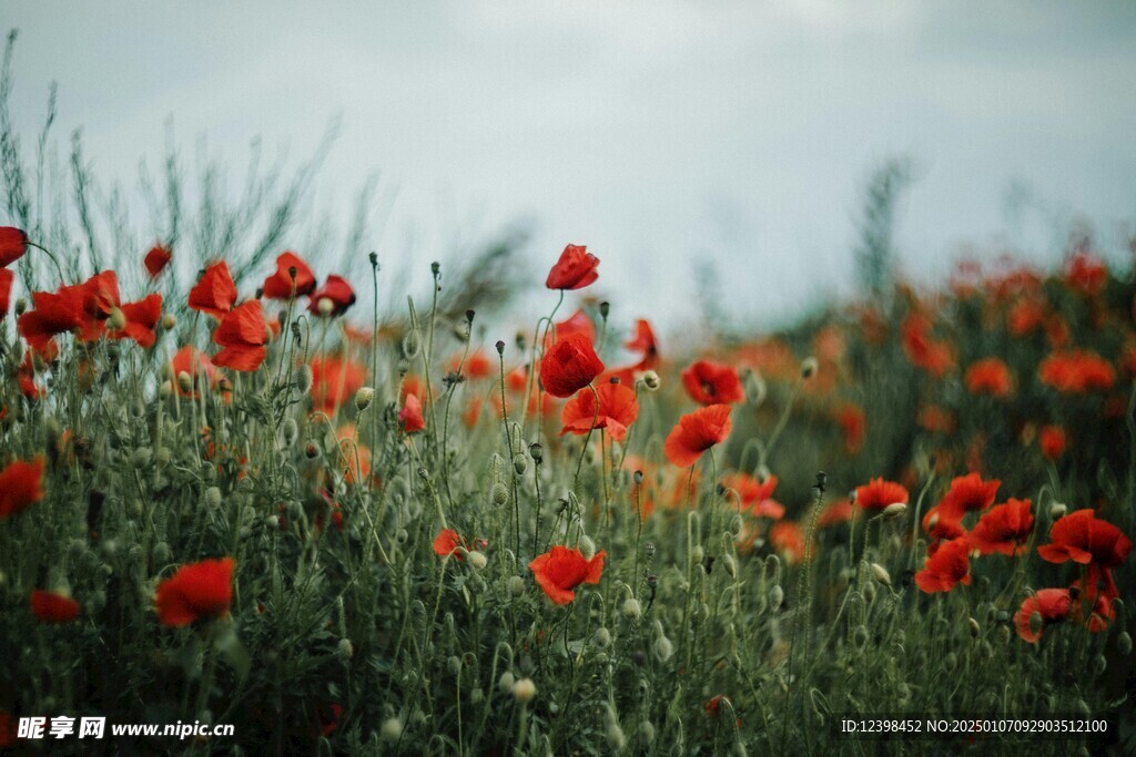
[[[398,250],[108,266],[5,144],[0,748],[84,751],[18,732],[56,716],[234,726],[92,747],[147,754],[1136,745],[1136,279],[1091,237],[671,348],[583,244],[488,322],[428,261],[381,298]]]

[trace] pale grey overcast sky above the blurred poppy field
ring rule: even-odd
[[[320,196],[381,171],[385,260],[531,219],[535,281],[587,244],[598,293],[671,328],[705,263],[767,320],[846,292],[861,187],[899,152],[913,275],[967,243],[1053,261],[1075,217],[1119,255],[1136,219],[1133,2],[5,0],[0,24],[17,118],[57,81],[100,177],[158,162],[170,117],[240,177],[252,137],[300,158],[337,115]]]

